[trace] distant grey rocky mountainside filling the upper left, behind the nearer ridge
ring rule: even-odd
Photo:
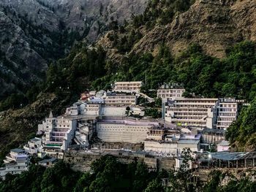
[[[94,42],[108,23],[140,14],[146,0],[1,0],[0,99],[44,78],[75,41]]]

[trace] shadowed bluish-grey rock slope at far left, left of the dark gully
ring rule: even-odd
[[[0,98],[42,78],[45,59],[31,49],[31,39],[12,20],[0,12]]]

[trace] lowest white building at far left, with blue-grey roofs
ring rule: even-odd
[[[20,174],[28,170],[29,158],[25,150],[13,149],[4,159],[4,167],[0,168],[0,177],[5,179],[7,173]]]

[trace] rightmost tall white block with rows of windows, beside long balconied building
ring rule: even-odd
[[[219,99],[217,128],[226,130],[237,117],[238,102],[236,99]]]

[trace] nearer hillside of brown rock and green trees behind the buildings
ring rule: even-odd
[[[119,26],[113,20],[111,30],[94,45],[80,42],[66,58],[50,64],[45,82],[35,85],[26,94],[12,95],[2,101],[0,110],[10,110],[0,113],[0,137],[4,138],[0,139],[1,155],[26,141],[50,108],[58,115],[61,109],[79,98],[81,91],[108,89],[115,80],[143,80],[144,91],[156,89],[163,82],[183,82],[187,96],[195,93],[253,101],[256,96],[255,20],[252,19],[255,1],[193,2],[154,0],[131,23]],[[219,12],[218,7],[222,7]],[[248,14],[243,15],[243,12]],[[231,13],[236,17],[232,18]],[[250,20],[247,28],[252,27],[251,30],[238,30],[241,22],[238,18]],[[230,27],[230,22],[239,25]],[[186,34],[185,41],[184,32],[192,29],[193,33]],[[229,34],[238,33],[241,38],[231,38],[228,34],[226,37],[226,30]],[[176,50],[178,45],[182,47],[180,50]],[[220,55],[216,52],[219,45],[222,46]],[[20,107],[22,109],[15,110]],[[237,149],[255,150],[256,121],[250,115],[253,110],[254,104],[248,112],[244,110],[236,127],[231,126],[228,131],[227,139]],[[244,127],[245,123],[249,125]],[[236,131],[238,129],[241,131]],[[244,139],[250,142],[245,143]]]

